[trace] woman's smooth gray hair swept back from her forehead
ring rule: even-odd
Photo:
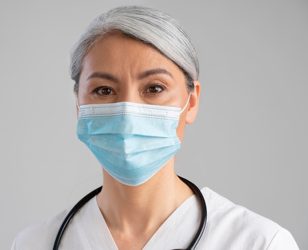
[[[189,92],[199,77],[196,50],[183,27],[173,17],[143,6],[116,7],[95,18],[71,50],[70,73],[78,93],[83,59],[107,33],[121,32],[154,47],[183,71]]]

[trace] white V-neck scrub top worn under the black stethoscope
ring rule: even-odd
[[[195,250],[299,250],[292,235],[242,206],[201,190],[207,205],[206,229]],[[59,227],[70,208],[17,235],[11,250],[52,250]],[[185,249],[200,223],[196,195],[189,197],[160,226],[143,250]],[[73,217],[59,250],[118,250],[93,197]]]

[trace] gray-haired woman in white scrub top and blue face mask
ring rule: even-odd
[[[185,124],[198,110],[195,49],[180,24],[159,11],[124,6],[96,18],[71,53],[77,134],[103,169],[103,188],[20,233],[12,249],[186,249],[202,202],[174,171]],[[208,188],[205,231],[195,249],[296,250],[290,233]],[[202,230],[201,230],[202,231]],[[57,243],[55,239],[57,237]],[[55,249],[55,248],[54,248]]]

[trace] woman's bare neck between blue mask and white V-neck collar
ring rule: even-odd
[[[103,170],[98,206],[111,231],[153,235],[159,226],[193,194],[174,172],[173,158],[150,180],[131,187]]]

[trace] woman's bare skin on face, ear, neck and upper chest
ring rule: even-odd
[[[182,112],[177,135],[194,121],[200,83],[194,82]],[[180,68],[153,47],[122,34],[109,34],[83,60],[79,105],[134,102],[184,108],[188,100]],[[77,108],[78,111],[78,108]],[[123,185],[103,169],[103,189],[97,203],[119,250],[141,250],[162,223],[193,192],[174,171],[174,157],[150,180]]]

